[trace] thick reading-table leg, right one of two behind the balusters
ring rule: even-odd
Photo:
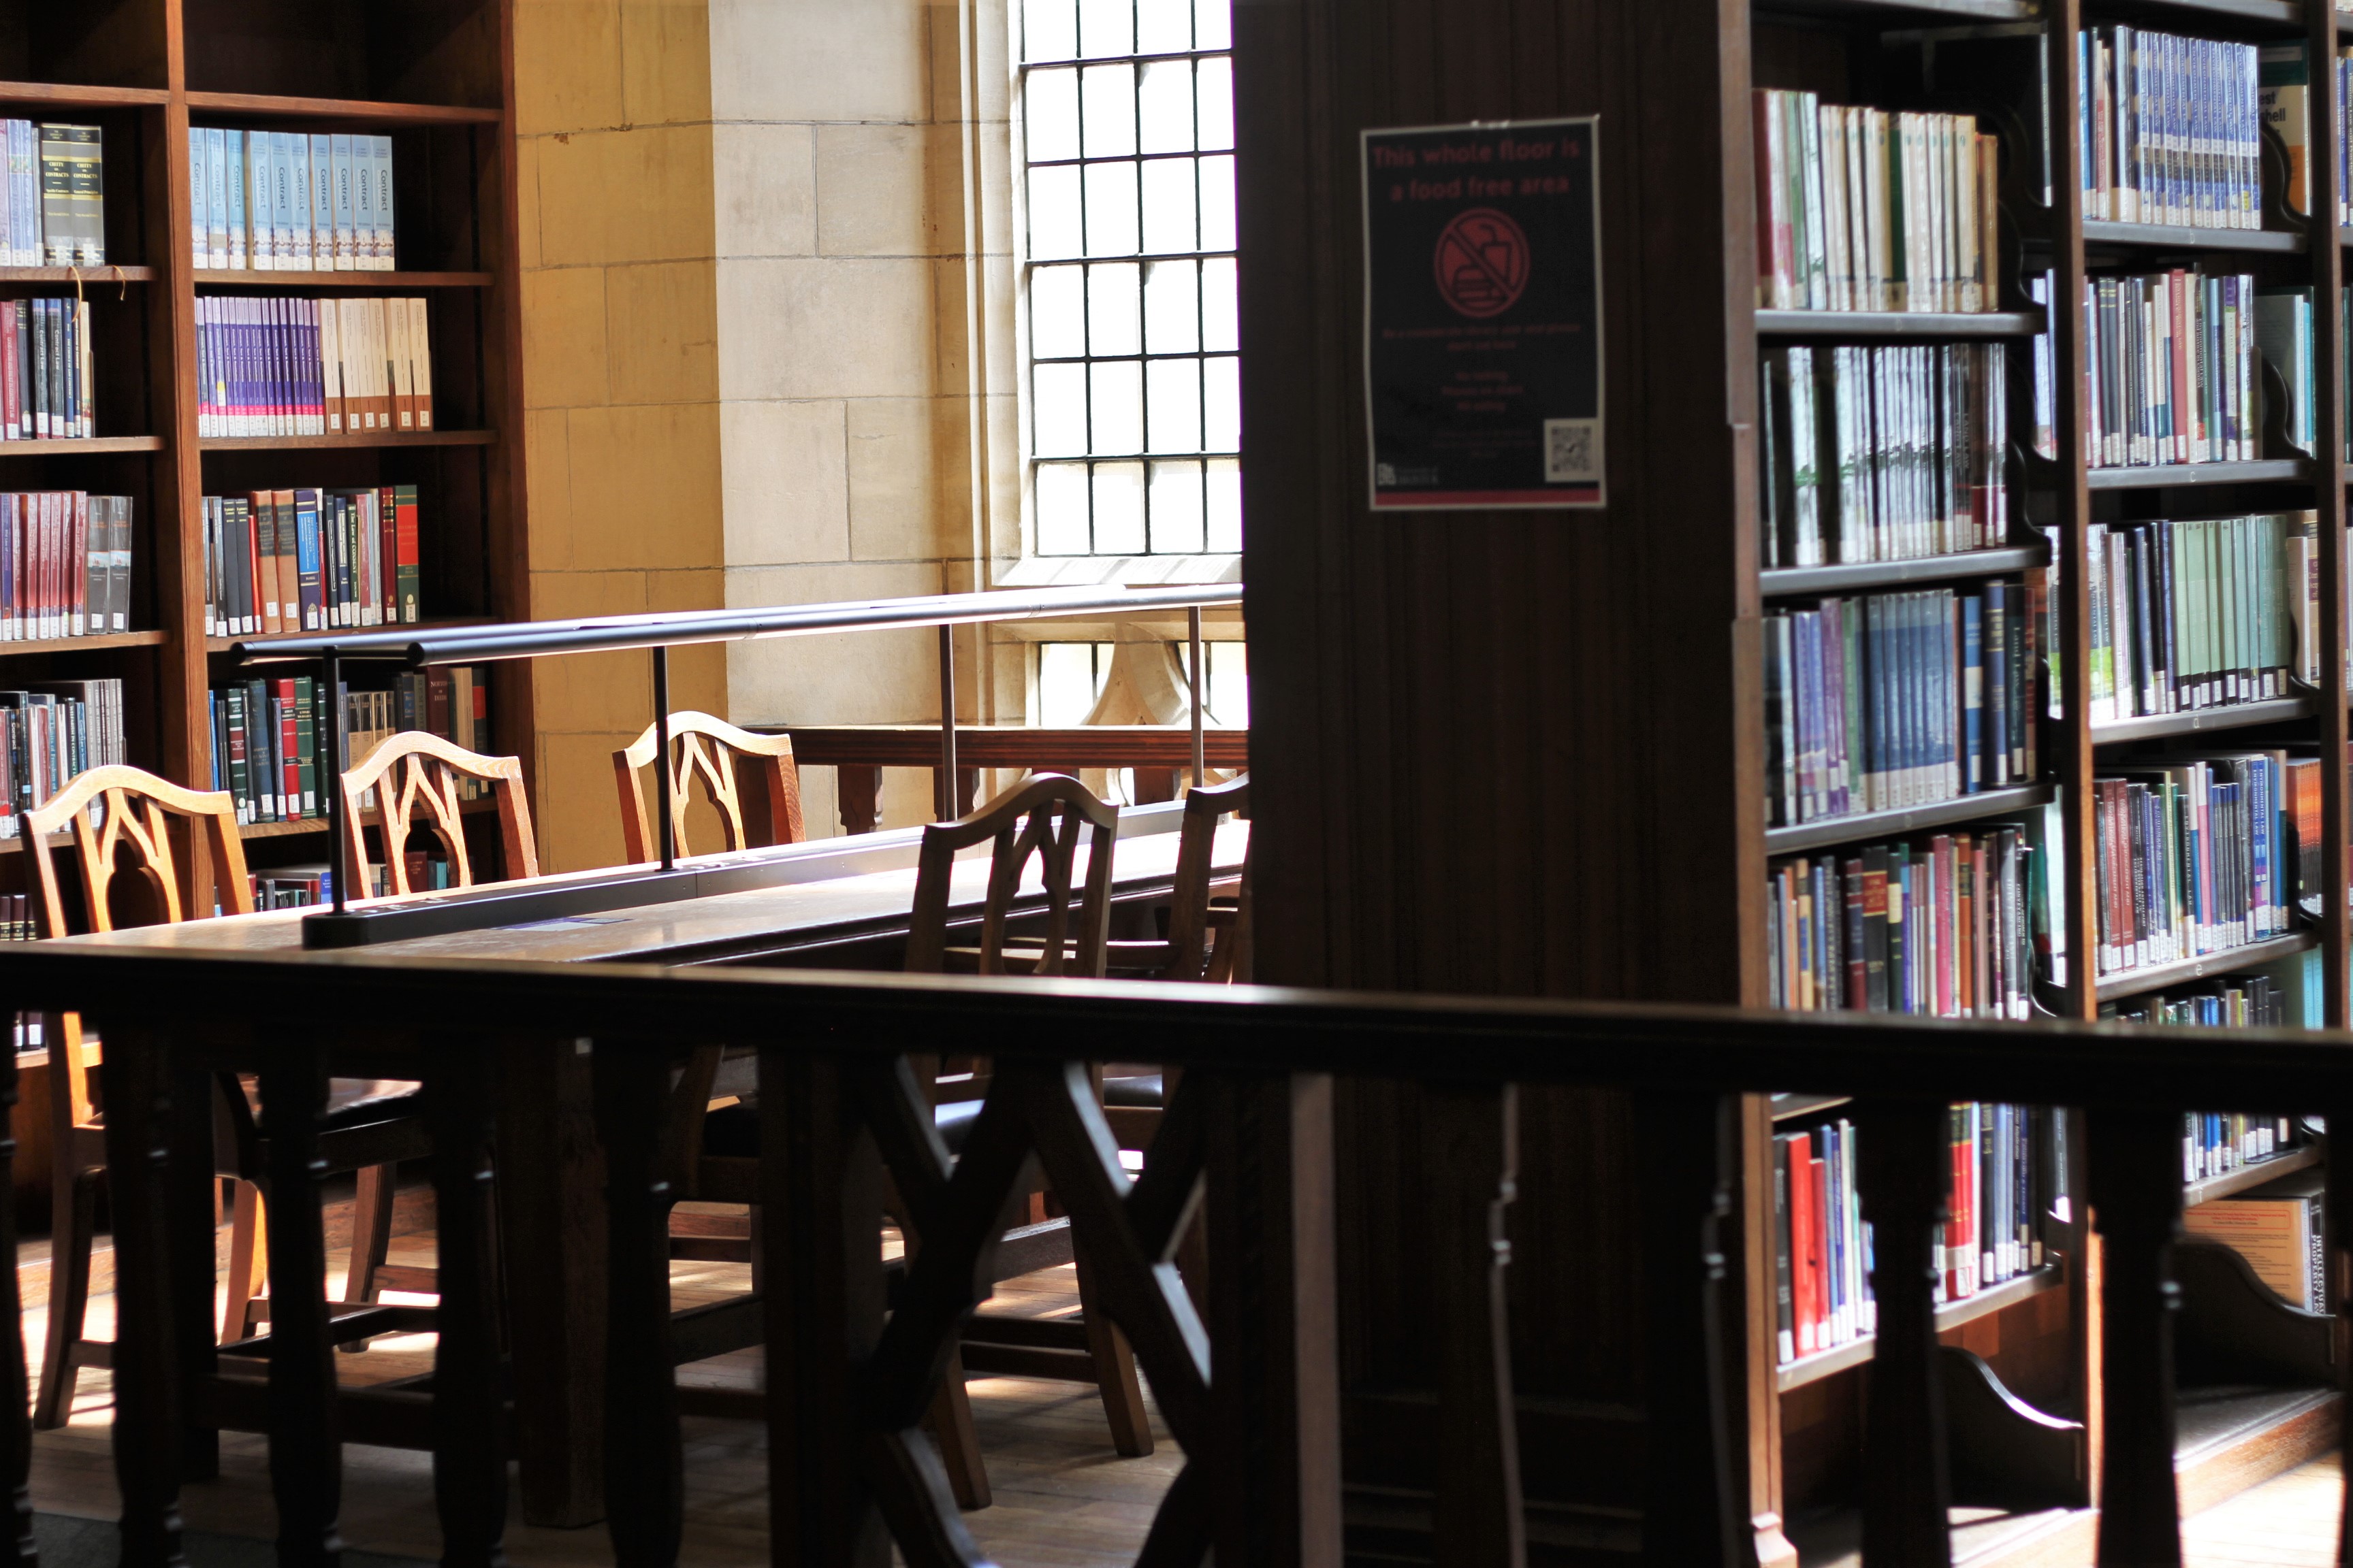
[[[522,1521],[588,1526],[605,1516],[605,1157],[588,1041],[501,1048],[499,1241]]]

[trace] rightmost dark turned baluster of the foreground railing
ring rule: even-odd
[[[2179,1568],[2172,1251],[2181,1234],[2181,1114],[2092,1107],[2092,1225],[2101,1255],[2101,1568]]]

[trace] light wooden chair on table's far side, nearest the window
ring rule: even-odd
[[[633,865],[659,858],[652,816],[645,802],[642,769],[654,762],[659,731],[645,733],[612,755],[614,785],[621,792],[621,844]],[[755,780],[758,799],[746,802],[746,776]],[[671,844],[680,856],[687,844],[687,806],[694,783],[718,811],[727,849],[767,849],[800,844],[800,769],[793,764],[791,736],[755,736],[708,712],[671,715]],[[671,1088],[664,1164],[671,1182],[687,1201],[746,1204],[744,1220],[725,1215],[671,1213],[673,1255],[715,1258],[753,1265],[753,1293],[760,1288],[758,1237],[758,1159],[741,1154],[706,1154],[708,1114],[729,1105],[753,1105],[758,1095],[758,1053],[701,1046]],[[748,1112],[746,1112],[748,1114]],[[713,1147],[732,1147],[725,1138]]]

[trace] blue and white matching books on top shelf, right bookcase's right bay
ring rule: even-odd
[[[2254,45],[2146,28],[2075,38],[2082,212],[2115,223],[2264,226]]]

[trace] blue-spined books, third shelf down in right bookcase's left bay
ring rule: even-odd
[[[1772,825],[2033,780],[2035,621],[2026,581],[2000,578],[1767,614]]]

